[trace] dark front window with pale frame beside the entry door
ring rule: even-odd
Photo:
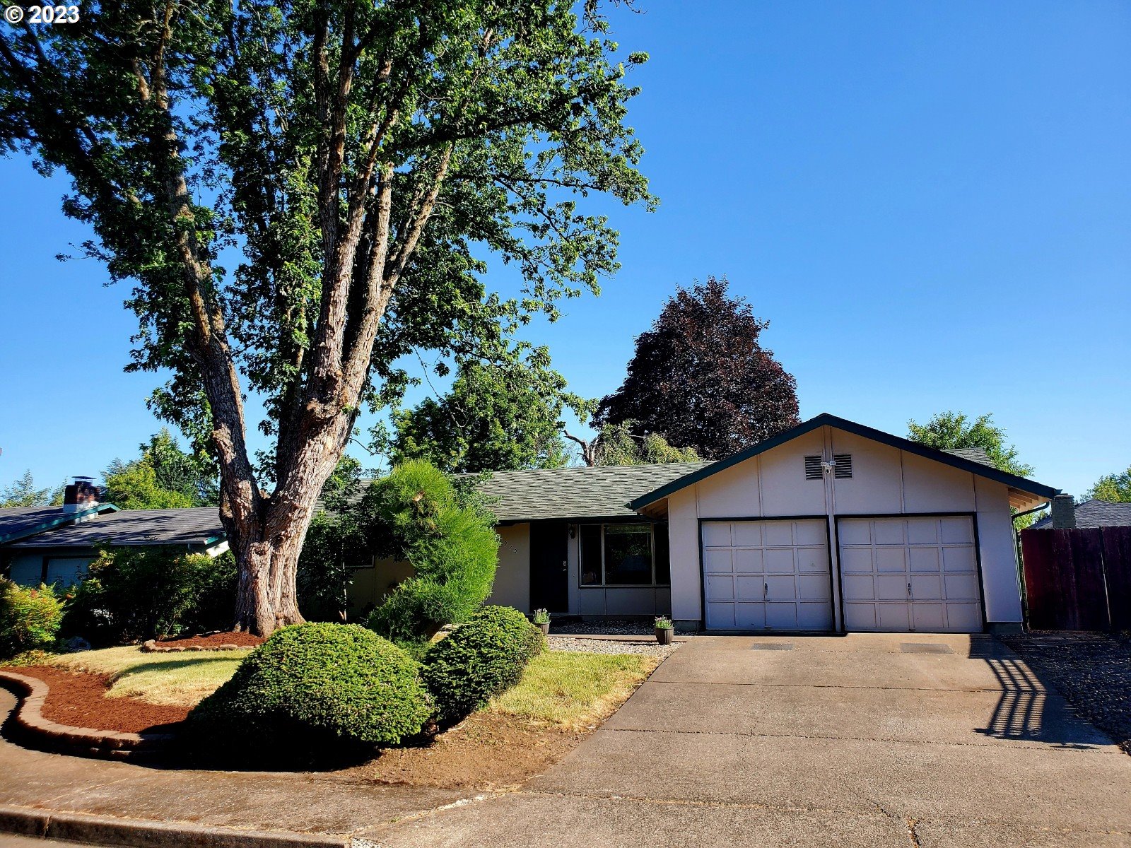
[[[581,586],[667,586],[666,527],[581,525]],[[666,542],[666,538],[663,539]]]

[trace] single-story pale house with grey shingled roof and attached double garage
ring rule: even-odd
[[[832,415],[717,462],[502,471],[491,603],[710,631],[1022,621],[1010,508],[1059,490]],[[355,607],[411,569],[357,572]]]

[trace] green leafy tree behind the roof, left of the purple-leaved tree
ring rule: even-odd
[[[509,365],[467,362],[443,397],[394,410],[395,433],[375,431],[375,447],[394,465],[426,459],[449,473],[556,468],[569,458],[562,409],[575,401],[544,348]]]

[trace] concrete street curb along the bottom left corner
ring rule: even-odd
[[[234,830],[0,806],[0,832],[122,848],[349,848],[349,837]]]

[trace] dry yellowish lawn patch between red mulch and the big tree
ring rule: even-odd
[[[77,672],[109,674],[111,698],[139,698],[149,703],[195,707],[235,673],[250,654],[238,651],[192,651],[145,654],[140,648],[105,648],[55,657],[52,665]]]

